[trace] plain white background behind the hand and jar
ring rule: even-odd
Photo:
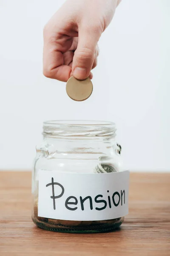
[[[44,120],[99,119],[116,122],[129,169],[170,171],[170,1],[122,0],[85,102],[42,75],[42,29],[62,3],[0,0],[0,169],[31,169]]]

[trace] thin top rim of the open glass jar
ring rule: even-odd
[[[109,122],[109,121],[97,121],[97,120],[49,120],[49,121],[44,121],[43,125],[71,125],[71,126],[112,126],[115,125],[114,122]]]

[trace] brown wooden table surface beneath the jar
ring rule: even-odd
[[[170,256],[170,173],[131,173],[129,214],[111,233],[55,233],[31,221],[31,172],[0,172],[0,256]]]

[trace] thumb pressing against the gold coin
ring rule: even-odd
[[[79,80],[88,78],[94,59],[97,42],[102,32],[97,27],[80,28],[77,49],[74,52],[72,72]]]

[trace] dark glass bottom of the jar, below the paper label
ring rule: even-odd
[[[39,218],[39,217],[38,217]],[[54,224],[47,222],[48,219],[40,218],[40,220],[35,216],[32,216],[33,222],[37,225],[37,227],[54,232],[62,232],[62,233],[102,233],[102,232],[111,232],[122,224],[124,221],[124,217],[117,218],[114,220],[106,220],[106,221],[83,221],[83,224],[79,224],[79,226],[66,226],[63,224]],[[89,224],[91,222],[91,224]],[[110,223],[109,223],[110,222]],[[112,222],[112,223],[111,223]]]

